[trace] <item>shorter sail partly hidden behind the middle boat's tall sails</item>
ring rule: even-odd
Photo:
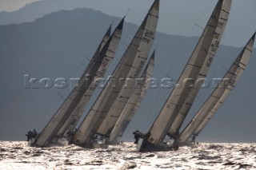
[[[118,136],[122,136],[123,132],[125,132],[127,126],[130,121],[134,117],[137,109],[142,103],[143,98],[146,95],[146,91],[150,85],[150,78],[152,77],[152,73],[154,70],[154,53],[152,53],[150,57],[150,61],[146,65],[145,70],[142,73],[142,80],[138,82],[138,86],[134,90],[134,93],[130,96],[129,101],[126,103],[126,107],[122,110],[118,121],[114,125],[114,128],[110,132],[109,141],[114,141]]]

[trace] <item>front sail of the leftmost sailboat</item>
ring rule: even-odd
[[[118,45],[114,44],[119,42],[122,33],[122,23],[123,19],[117,29],[114,31],[114,34],[111,36],[110,28],[107,30],[105,36],[102,38],[102,42],[98,45],[98,49],[95,51],[94,56],[90,60],[89,65],[82,73],[82,77],[78,81],[78,85],[70,92],[69,96],[50,119],[46,127],[42,129],[42,132],[39,133],[39,135],[33,139],[32,142],[30,142],[31,146],[45,147],[54,142],[53,140],[56,138],[56,134],[63,127],[66,121],[70,120],[70,115],[72,115],[74,109],[78,109],[78,104],[80,103],[82,97],[84,97],[85,93],[88,92],[87,90],[90,88],[90,85],[93,84],[94,76],[98,73],[98,69],[100,69],[102,61],[108,60],[106,53],[109,53],[110,50],[115,51],[117,49]],[[88,78],[88,75],[90,75],[90,78]],[[91,89],[89,90],[91,91]],[[81,107],[81,105],[79,106]]]

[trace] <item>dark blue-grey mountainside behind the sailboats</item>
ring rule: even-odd
[[[35,22],[0,26],[0,56],[2,83],[0,84],[0,140],[25,140],[31,128],[40,131],[62,103],[70,89],[43,89],[42,86],[27,88],[30,78],[79,77],[88,64],[110,23],[114,26],[121,18],[110,17],[90,9],[62,10],[38,18]],[[134,36],[137,26],[126,23],[114,69],[126,45]],[[186,38],[158,33],[153,47],[156,48],[154,77],[177,79],[198,38]],[[246,42],[244,42],[246,44]],[[222,76],[239,53],[238,48],[221,46],[214,60],[210,77]],[[255,141],[251,136],[255,129],[254,97],[256,96],[255,51],[246,72],[234,92],[219,110],[218,115],[202,132],[203,141]],[[72,84],[72,82],[70,82]],[[129,126],[124,140],[132,140],[131,131],[149,128],[161,109],[170,89],[149,89],[142,107]],[[210,89],[202,90],[206,99]],[[55,99],[55,100],[54,100]],[[198,98],[197,104],[202,104]],[[91,105],[91,104],[90,104]],[[87,108],[88,109],[88,108]],[[192,109],[196,111],[198,106]],[[194,113],[192,112],[192,113]],[[240,126],[245,124],[246,127]]]

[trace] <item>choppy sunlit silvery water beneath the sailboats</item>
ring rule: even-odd
[[[31,148],[26,142],[0,142],[1,169],[256,169],[256,144],[199,144],[174,152],[136,152],[124,143],[87,149],[75,145]]]

